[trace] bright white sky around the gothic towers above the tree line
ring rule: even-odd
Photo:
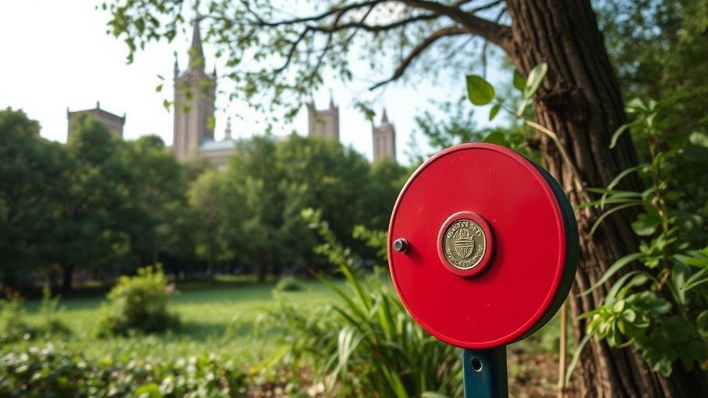
[[[30,118],[39,120],[42,137],[67,140],[67,108],[101,108],[118,115],[126,114],[124,137],[133,140],[141,135],[156,134],[168,145],[172,143],[173,118],[163,106],[172,98],[173,53],[179,56],[181,67],[187,63],[190,32],[175,42],[153,43],[135,55],[135,62],[126,64],[127,47],[105,33],[109,16],[96,9],[101,0],[62,1],[0,1],[0,43],[4,59],[0,62],[0,107],[21,108]],[[213,68],[211,49],[205,45],[207,70]],[[217,70],[219,68],[217,65]],[[394,84],[380,96],[377,113],[385,106],[389,120],[396,126],[396,146],[399,159],[406,162],[409,136],[415,128],[413,116],[430,109],[430,99],[458,98],[464,90],[464,74],[459,85],[445,89],[421,83],[416,87]],[[480,71],[473,71],[479,73]],[[491,74],[496,72],[491,71]],[[155,87],[166,78],[161,93]],[[424,80],[424,79],[423,79]],[[372,157],[370,123],[353,109],[357,93],[364,91],[361,82],[343,87],[329,84],[316,93],[318,108],[329,103],[329,89],[340,106],[340,133],[344,144],[351,144],[366,157]],[[227,103],[217,98],[215,135],[224,135],[227,115],[232,118],[234,137],[250,137],[262,131],[258,115],[246,106]],[[485,125],[486,108],[476,112],[476,120]],[[379,115],[377,115],[377,122]],[[282,134],[292,130],[307,134],[307,114],[301,111],[292,125],[280,126]],[[278,133],[278,131],[276,131]],[[422,142],[422,140],[419,140]]]

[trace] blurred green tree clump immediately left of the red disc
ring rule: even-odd
[[[220,234],[261,278],[279,269],[292,273],[326,266],[312,248],[318,238],[300,217],[321,208],[340,239],[356,244],[356,224],[383,228],[406,171],[392,161],[370,166],[338,142],[290,135],[244,140],[219,178]],[[360,245],[361,246],[361,245]],[[366,255],[365,251],[360,251]]]

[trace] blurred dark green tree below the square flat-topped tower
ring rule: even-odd
[[[122,142],[106,127],[81,115],[67,143],[67,163],[57,184],[59,220],[51,236],[62,286],[71,290],[74,271],[98,278],[139,264],[135,248],[156,224],[137,197],[137,178],[121,157]]]

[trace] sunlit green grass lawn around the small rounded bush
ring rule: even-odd
[[[94,337],[105,298],[69,297],[60,302],[60,307],[63,307],[62,319],[74,334],[67,339],[52,339],[52,344],[98,359],[217,353],[249,368],[275,348],[273,336],[267,332],[253,333],[259,314],[265,310],[277,310],[283,301],[308,309],[336,300],[333,292],[319,281],[304,281],[302,285],[304,289],[301,291],[280,292],[275,296],[271,292],[275,283],[220,278],[214,283],[178,284],[178,293],[171,301],[171,310],[181,319],[177,331],[111,339]],[[26,307],[30,319],[37,317],[38,300],[28,301]]]

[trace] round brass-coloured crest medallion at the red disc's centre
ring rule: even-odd
[[[457,220],[445,230],[442,250],[453,267],[461,270],[474,268],[486,253],[484,230],[472,220]]]

